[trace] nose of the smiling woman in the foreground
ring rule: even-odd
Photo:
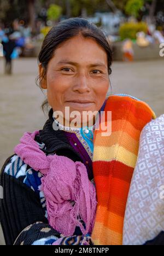
[[[75,78],[76,82],[73,86],[73,91],[77,91],[80,94],[84,94],[84,92],[90,92],[89,79],[85,74],[79,74],[78,77]]]

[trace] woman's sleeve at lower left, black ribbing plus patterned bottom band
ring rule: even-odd
[[[75,229],[74,236],[64,237],[48,224],[39,195],[22,182],[22,179],[4,172],[13,156],[5,161],[0,176],[0,186],[3,188],[3,196],[0,199],[0,220],[5,243],[7,245],[52,245],[62,237],[63,241],[59,240],[62,244],[92,243],[90,237],[80,236],[81,232],[78,228]],[[14,172],[14,167],[11,168],[11,172]]]

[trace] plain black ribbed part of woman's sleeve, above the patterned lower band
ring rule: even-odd
[[[20,179],[4,173],[10,158],[5,161],[0,176],[0,185],[3,188],[0,220],[7,245],[13,245],[17,236],[27,226],[36,222],[48,224],[39,196]]]

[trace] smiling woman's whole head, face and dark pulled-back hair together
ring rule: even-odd
[[[95,25],[80,18],[58,24],[46,36],[38,60],[40,87],[48,94],[43,108],[50,104],[64,112],[67,106],[82,117],[82,111],[102,107],[110,86],[112,50]]]

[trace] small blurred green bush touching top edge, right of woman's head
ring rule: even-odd
[[[139,12],[144,6],[144,0],[128,0],[125,6],[125,12],[128,15],[132,15],[138,18]]]

